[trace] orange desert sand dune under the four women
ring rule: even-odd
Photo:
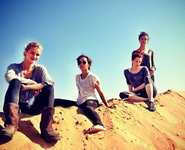
[[[155,98],[157,112],[145,103],[129,104],[120,99],[96,111],[107,131],[84,134],[92,126],[77,107],[56,107],[54,130],[61,140],[48,144],[40,137],[40,117],[20,113],[19,129],[8,143],[0,141],[0,150],[185,150],[185,91],[168,90]],[[4,126],[0,113],[0,129]]]

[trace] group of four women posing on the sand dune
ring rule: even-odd
[[[140,47],[132,52],[132,66],[124,70],[128,91],[121,92],[120,98],[128,102],[145,102],[150,111],[155,111],[154,98],[157,94],[154,85],[154,53],[146,48],[149,36],[145,32],[139,35]],[[86,55],[77,58],[77,65],[81,70],[76,75],[78,88],[77,101],[54,98],[54,82],[43,65],[36,64],[42,53],[42,46],[38,42],[30,42],[24,49],[24,60],[19,64],[10,64],[5,73],[9,83],[5,94],[3,111],[5,115],[4,128],[0,131],[0,138],[11,140],[18,129],[19,112],[37,115],[41,113],[41,137],[48,143],[57,142],[60,136],[52,128],[54,107],[76,106],[83,109],[93,126],[86,130],[87,134],[105,131],[99,114],[95,109],[99,100],[95,94],[97,90],[101,100],[108,108],[110,106],[100,86],[98,76],[90,72],[92,60]]]

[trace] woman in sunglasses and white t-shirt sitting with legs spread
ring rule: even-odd
[[[77,101],[55,99],[54,106],[77,106],[82,108],[87,117],[93,123],[93,126],[89,128],[85,133],[105,131],[106,129],[103,123],[101,122],[100,116],[95,111],[95,109],[99,105],[99,101],[95,94],[95,89],[97,90],[105,106],[109,106],[106,101],[105,95],[101,90],[99,78],[89,71],[92,64],[92,60],[86,55],[80,55],[77,58],[77,64],[81,70],[81,74],[76,75],[76,86],[78,88]]]

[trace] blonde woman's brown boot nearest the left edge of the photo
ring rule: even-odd
[[[8,103],[4,106],[4,115],[6,121],[5,128],[0,131],[0,139],[10,141],[18,128],[19,122],[19,105],[15,103]]]

